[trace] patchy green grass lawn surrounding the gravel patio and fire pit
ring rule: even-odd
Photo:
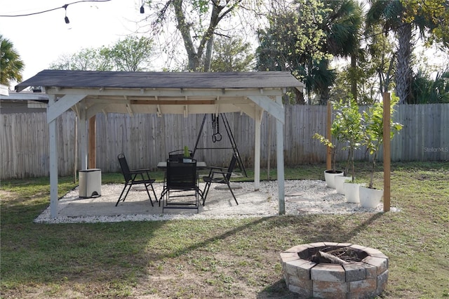
[[[368,164],[356,167],[368,179]],[[286,179],[323,179],[323,169],[287,168]],[[72,180],[60,178],[60,196]],[[449,162],[393,164],[391,206],[401,210],[394,213],[35,224],[49,190],[48,178],[1,182],[1,298],[295,298],[279,253],[318,241],[387,255],[382,298],[449,298]]]

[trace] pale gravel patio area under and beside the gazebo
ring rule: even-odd
[[[163,184],[153,185],[159,196]],[[200,183],[200,187],[203,186]],[[118,206],[115,204],[123,188],[121,184],[102,185],[101,197],[88,199],[81,199],[76,187],[59,200],[58,218],[51,219],[48,206],[34,222],[154,221],[279,215],[278,186],[275,180],[260,182],[258,191],[254,190],[253,182],[233,182],[232,186],[239,205],[236,205],[226,185],[212,185],[206,204],[200,206],[199,213],[192,209],[170,209],[162,213],[158,203],[153,200],[154,206],[150,204],[147,192],[145,189],[142,191],[141,187],[133,187],[126,201],[120,202]],[[348,203],[343,195],[326,187],[326,182],[322,180],[286,180],[285,192],[286,215],[379,213],[383,209],[382,203],[375,209]]]

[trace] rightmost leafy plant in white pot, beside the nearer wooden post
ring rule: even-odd
[[[394,106],[398,103],[399,98],[394,94],[391,95],[390,101],[390,115],[394,112]],[[366,208],[375,208],[382,199],[383,190],[375,189],[373,187],[373,178],[376,168],[377,153],[384,142],[384,105],[383,102],[377,102],[363,112],[363,119],[365,121],[364,130],[364,145],[371,156],[371,171],[370,183],[368,187],[360,187],[360,201],[361,206]],[[395,123],[391,119],[390,124],[390,139],[393,139],[394,134],[401,131],[402,125]]]

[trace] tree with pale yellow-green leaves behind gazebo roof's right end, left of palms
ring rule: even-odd
[[[268,15],[269,25],[258,30],[256,69],[260,71],[288,71],[304,81],[308,97],[316,84],[311,74],[318,62],[330,58],[322,51],[326,32],[317,24],[323,23],[324,5],[321,1],[300,0],[295,4],[280,3]],[[325,78],[323,76],[322,78]],[[296,102],[304,99],[297,97]]]

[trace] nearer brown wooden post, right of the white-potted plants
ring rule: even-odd
[[[390,211],[390,94],[384,93],[384,212]]]

